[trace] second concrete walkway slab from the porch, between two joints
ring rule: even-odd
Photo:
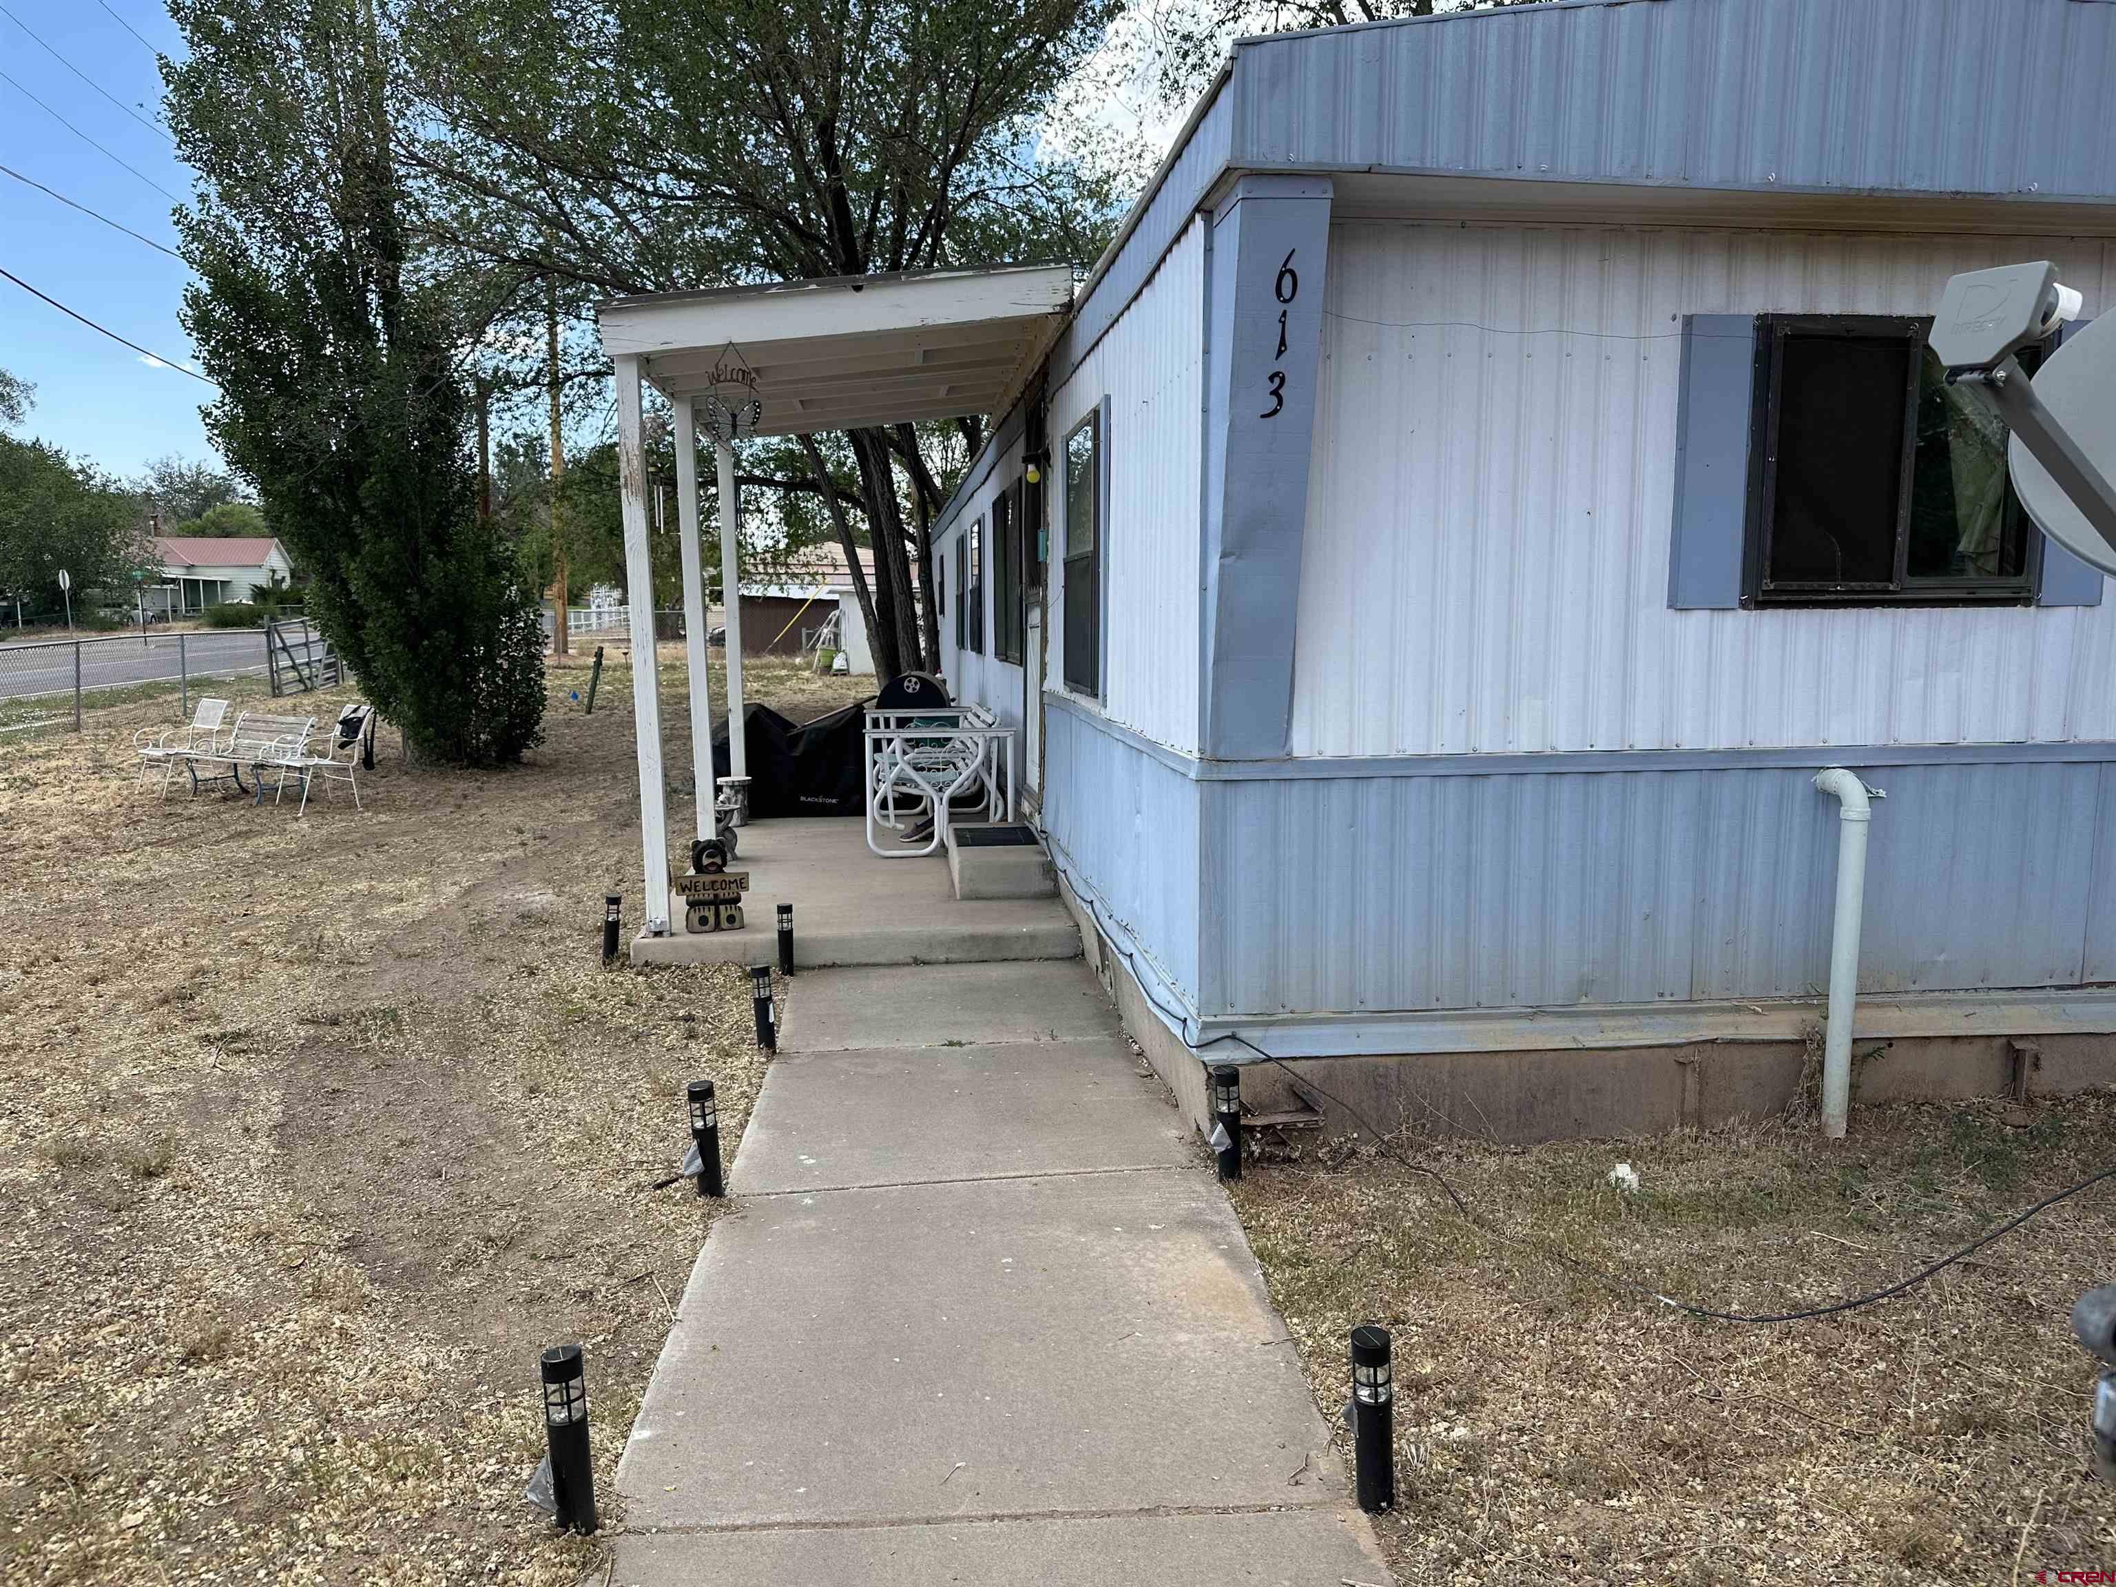
[[[787,1056],[734,1157],[736,1196],[1200,1164],[1111,1037]]]

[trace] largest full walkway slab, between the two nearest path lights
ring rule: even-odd
[[[618,1488],[631,1530],[1322,1504],[1327,1437],[1202,1170],[817,1191],[713,1225]]]

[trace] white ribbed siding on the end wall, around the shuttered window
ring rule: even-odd
[[[2116,243],[1331,231],[1295,755],[2116,738],[2099,607],[1670,612],[1684,313],[1930,313]]]

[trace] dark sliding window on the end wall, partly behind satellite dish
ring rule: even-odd
[[[1951,387],[1930,320],[1763,315],[1750,444],[1758,605],[2033,599],[2006,427]],[[2023,353],[2033,370],[2033,360]]]

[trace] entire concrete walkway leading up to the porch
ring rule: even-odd
[[[1088,969],[810,971],[618,1471],[618,1583],[1386,1583]]]

